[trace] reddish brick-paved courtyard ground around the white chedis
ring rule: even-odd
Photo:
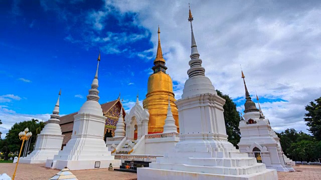
[[[10,176],[15,170],[14,163],[0,163],[0,174],[7,173]],[[295,166],[295,172],[278,172],[279,180],[321,180],[320,165]],[[19,164],[15,179],[49,179],[59,172],[57,169],[45,167],[45,164]],[[78,179],[136,179],[137,175],[130,172],[120,172],[108,169],[73,170]]]

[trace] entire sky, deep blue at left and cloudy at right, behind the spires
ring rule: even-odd
[[[244,108],[244,86],[276,131],[306,131],[304,106],[321,95],[320,2],[191,1],[206,75]],[[3,0],[0,2],[0,131],[31,117],[78,111],[94,77],[100,103],[121,92],[128,110],[146,94],[157,26],[177,99],[188,78],[190,26],[184,0]],[[302,45],[303,44],[303,45]],[[306,73],[314,71],[315,73]],[[4,134],[2,135],[4,137]]]

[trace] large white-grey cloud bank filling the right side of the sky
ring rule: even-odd
[[[321,94],[315,78],[321,76],[320,2],[304,5],[285,1],[200,2],[191,3],[194,34],[202,65],[215,88],[232,98],[244,97],[239,65],[242,64],[252,95],[256,90],[260,96],[286,100],[261,105],[275,130],[307,128],[303,121],[304,106]],[[190,59],[187,2],[106,0],[106,6],[115,7],[120,14],[135,13],[133,24],[151,32],[154,47],[148,50],[152,54],[138,53],[147,60],[155,56],[160,25],[167,72],[179,98],[188,78]]]

